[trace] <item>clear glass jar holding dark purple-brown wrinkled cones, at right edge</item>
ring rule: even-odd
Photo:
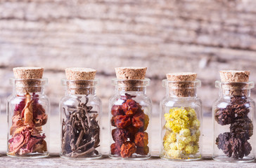
[[[212,158],[222,162],[252,162],[255,102],[250,98],[253,82],[216,81],[219,97],[212,106],[214,123]]]

